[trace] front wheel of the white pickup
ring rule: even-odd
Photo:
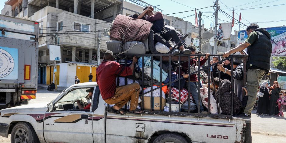
[[[17,123],[11,132],[11,142],[12,143],[39,143],[39,138],[32,125],[19,122]]]

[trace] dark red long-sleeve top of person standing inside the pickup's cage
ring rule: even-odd
[[[201,59],[200,66],[204,65],[206,61],[207,60],[205,58]],[[195,59],[190,60],[190,73],[196,71],[195,66],[199,66],[198,60]],[[189,68],[188,62],[182,63],[180,68],[181,68],[180,75],[182,75],[183,73],[188,74],[188,68]],[[177,73],[179,73],[179,68],[177,68]],[[188,78],[186,78],[186,81],[188,81]],[[198,82],[197,74],[190,75],[190,82]]]

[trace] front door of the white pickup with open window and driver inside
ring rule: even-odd
[[[77,106],[75,99],[88,97],[86,90],[91,88],[95,89],[95,86],[70,89],[54,103],[54,109],[51,112],[45,113],[46,142],[93,142],[91,109],[74,109]]]

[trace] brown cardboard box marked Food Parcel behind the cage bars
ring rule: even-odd
[[[153,105],[152,110],[153,111],[159,111],[160,110],[160,97],[152,97],[153,98]],[[142,103],[142,102],[141,102]],[[144,96],[144,110],[151,110],[151,97]],[[166,106],[166,99],[162,97],[162,111],[164,110],[164,107]]]

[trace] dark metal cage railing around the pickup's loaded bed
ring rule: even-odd
[[[133,57],[134,54],[120,54],[121,56],[124,56],[124,58],[120,58],[120,59],[125,59],[125,66],[127,66],[127,57]],[[193,59],[200,59],[200,57],[202,56],[205,56],[204,54],[189,54],[189,55],[172,55],[172,54],[136,54],[135,56],[140,56],[142,57],[142,68],[141,68],[141,72],[142,72],[142,76],[141,76],[141,88],[142,88],[142,91],[141,91],[141,109],[144,110],[144,95],[145,94],[148,94],[151,92],[151,110],[149,111],[146,111],[145,113],[148,113],[148,114],[159,114],[159,115],[172,115],[172,116],[193,116],[193,117],[214,117],[214,118],[223,118],[223,119],[231,119],[231,115],[222,115],[220,113],[220,110],[221,110],[221,93],[220,93],[220,90],[218,90],[219,92],[219,95],[216,96],[216,101],[217,104],[218,104],[218,114],[211,114],[210,113],[210,102],[208,101],[208,114],[202,114],[200,113],[200,102],[199,100],[201,100],[200,98],[200,84],[197,84],[197,89],[198,89],[198,101],[195,101],[195,102],[198,102],[198,107],[197,107],[197,110],[198,112],[197,113],[190,113],[190,88],[188,88],[188,112],[181,112],[180,110],[180,105],[181,105],[181,102],[180,102],[180,87],[181,87],[181,84],[180,84],[180,80],[181,79],[184,79],[184,77],[180,77],[180,68],[179,68],[179,72],[177,73],[179,76],[178,76],[178,79],[176,80],[173,80],[171,81],[171,71],[172,71],[172,65],[177,65],[177,66],[180,66],[183,62],[188,62],[188,74],[189,74],[189,77],[188,77],[188,82],[190,82],[190,75],[193,75],[193,74],[197,74],[197,80],[200,82],[200,72],[203,71],[203,70],[207,70],[207,74],[208,74],[208,87],[210,87],[210,81],[211,79],[213,80],[213,78],[211,77],[211,69],[213,66],[217,65],[217,64],[221,64],[222,62],[226,61],[226,60],[229,60],[230,63],[231,63],[231,93],[232,93],[232,96],[231,96],[231,114],[233,115],[233,94],[234,94],[234,78],[233,78],[233,62],[239,62],[239,63],[243,63],[243,86],[245,86],[246,84],[246,61],[247,61],[247,58],[248,58],[248,55],[242,51],[241,54],[239,55],[234,55],[234,54],[231,54],[228,58],[224,58],[224,59],[221,59],[220,57],[222,56],[221,54],[211,54],[208,58],[208,65],[206,65],[204,68],[201,68],[200,67],[200,60],[198,60],[198,70],[195,71],[195,72],[192,72],[190,73],[190,60],[193,60]],[[144,92],[144,57],[145,56],[148,56],[148,57],[151,57],[151,75],[150,75],[150,78],[151,78],[151,90],[148,91],[148,92]],[[191,56],[194,56],[194,58],[191,58]],[[218,63],[214,63],[214,64],[210,64],[210,57],[211,56],[216,56],[218,57],[218,60],[219,62]],[[153,84],[154,84],[154,80],[153,80],[153,60],[154,60],[154,57],[156,58],[157,61],[160,61],[160,81],[158,81],[160,83],[159,87],[156,87],[156,88],[153,88]],[[119,58],[117,58],[117,62],[119,61]],[[169,62],[169,82],[162,85],[162,61],[167,61]],[[174,61],[178,61],[177,63],[175,63]],[[133,76],[135,76],[135,69],[133,71]],[[219,78],[219,81],[221,81],[221,74],[220,72],[218,72],[218,78]],[[171,109],[171,87],[172,87],[172,83],[174,82],[177,82],[179,81],[179,99],[178,99],[178,103],[179,103],[179,112],[172,112]],[[133,79],[133,82],[135,82],[135,79]],[[125,85],[127,85],[127,77],[125,77]],[[215,86],[215,84],[213,84]],[[119,78],[117,78],[117,86],[119,86]],[[169,112],[164,112],[162,111],[162,87],[164,86],[168,86],[169,88]],[[221,84],[219,82],[219,89],[221,88]],[[157,89],[160,89],[160,110],[159,111],[155,111],[153,109],[153,91],[157,90]],[[216,91],[214,91],[216,92]],[[245,95],[245,92],[243,91],[243,95]],[[166,98],[167,99],[167,98]],[[210,99],[210,88],[208,88],[208,99]],[[126,105],[125,105],[125,109],[126,109]]]

